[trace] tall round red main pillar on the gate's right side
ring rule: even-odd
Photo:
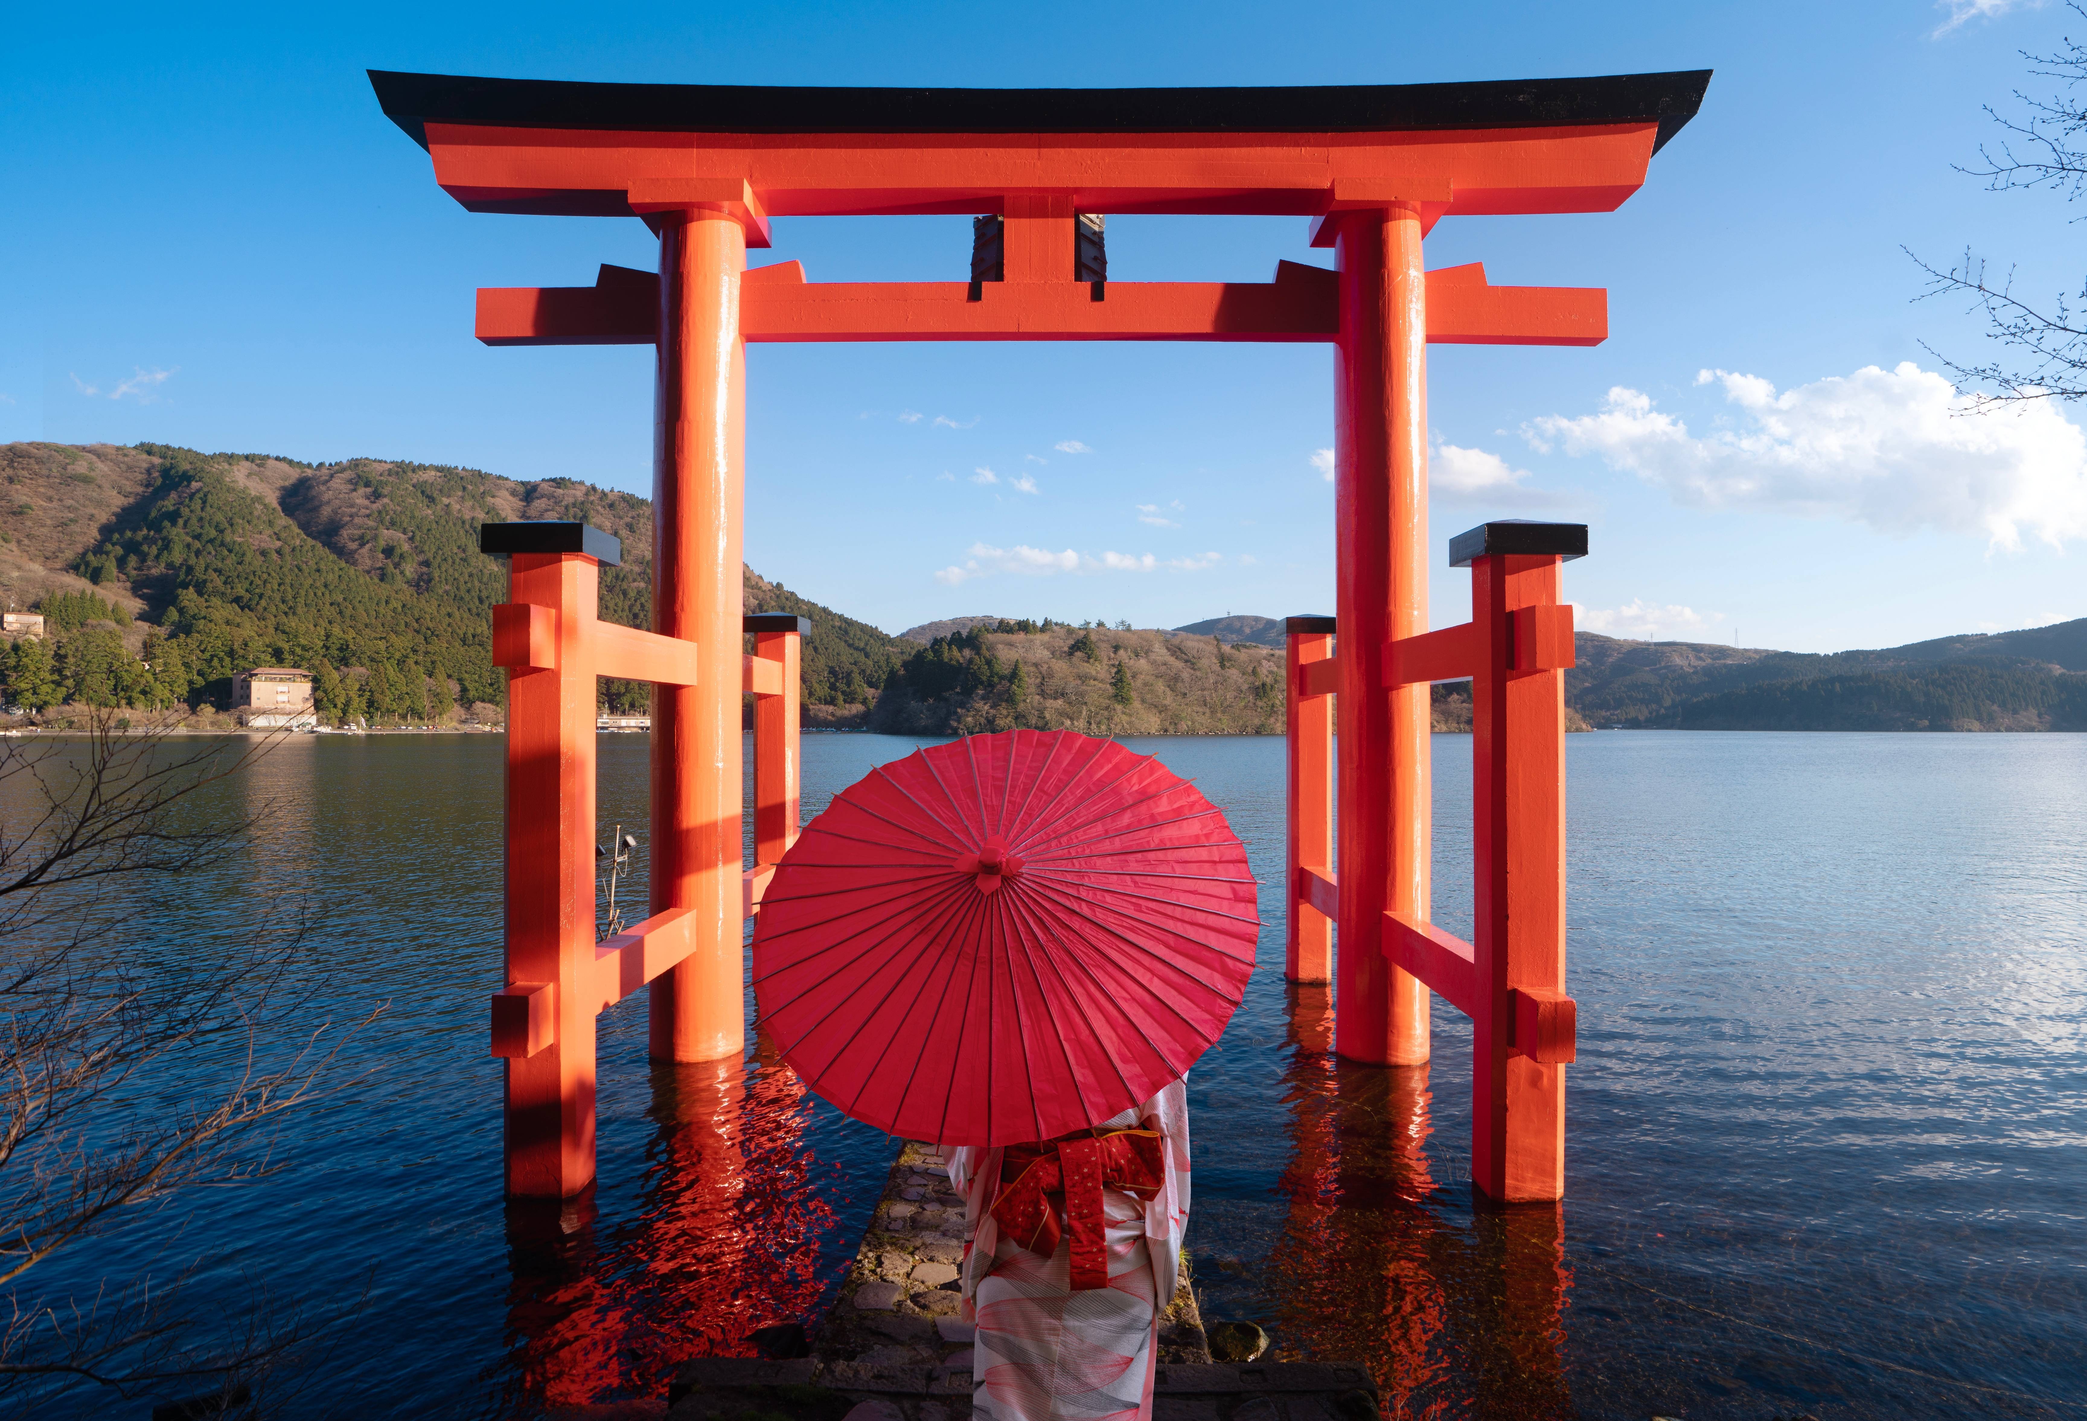
[[[1428,687],[1384,691],[1384,643],[1428,630],[1428,273],[1421,213],[1344,215],[1334,351],[1340,622],[1340,956],[1350,1060],[1428,1060],[1428,989],[1380,949],[1384,912],[1428,918]]]

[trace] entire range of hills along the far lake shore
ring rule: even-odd
[[[25,684],[113,705],[196,705],[223,701],[234,670],[303,666],[330,714],[497,712],[505,676],[490,661],[490,607],[505,601],[505,572],[478,553],[482,522],[582,520],[616,534],[624,561],[603,568],[601,616],[651,622],[649,501],[572,478],[27,442],[0,444],[0,601],[27,609],[61,597],[109,613],[69,618],[54,655],[0,643],[0,699],[31,707],[48,701],[23,699]],[[1089,628],[973,616],[889,636],[751,568],[743,586],[747,611],[812,618],[803,699],[824,707],[822,724],[1279,726],[1267,697],[1281,693],[1281,657],[1248,655],[1281,649],[1279,618],[1135,634],[1096,626],[1083,643]],[[1565,699],[1594,726],[2087,730],[2087,618],[1830,655],[1594,632],[1576,645]],[[38,666],[17,676],[21,655]],[[609,707],[639,709],[647,697],[649,687],[603,682]],[[1450,701],[1457,691],[1438,687],[1438,724],[1453,724]]]

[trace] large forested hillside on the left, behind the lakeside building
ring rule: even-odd
[[[225,705],[236,670],[298,666],[332,718],[497,718],[505,676],[488,609],[507,576],[478,551],[482,522],[580,520],[616,534],[624,561],[601,570],[601,616],[651,620],[651,503],[580,480],[163,444],[8,444],[0,480],[0,597],[44,609],[58,632],[4,649],[6,699],[29,709]],[[899,664],[877,628],[745,578],[749,611],[812,618],[806,699],[860,703]],[[104,616],[81,616],[83,597]],[[603,682],[616,709],[647,695]]]

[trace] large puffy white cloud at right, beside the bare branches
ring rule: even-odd
[[[1549,453],[1601,455],[1705,509],[1847,517],[1878,532],[1978,532],[2018,549],[2022,532],[2060,547],[2087,536],[2087,434],[2054,401],[1972,413],[1912,361],[1866,365],[1776,394],[1759,376],[1705,369],[1747,417],[1695,438],[1638,390],[1615,386],[1601,413],[1544,415],[1524,436]]]

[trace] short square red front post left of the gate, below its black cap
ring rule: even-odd
[[[582,553],[513,553],[507,672],[507,993],[549,1010],[549,1043],[507,1056],[507,1194],[595,1179],[595,622]],[[549,618],[538,611],[549,609]],[[520,616],[515,616],[520,613]],[[534,622],[534,636],[530,636]],[[499,630],[499,622],[497,622]],[[530,641],[534,647],[530,649]],[[532,666],[534,664],[534,666]],[[549,993],[549,1002],[543,995]],[[518,1002],[524,1008],[526,1002]],[[499,1008],[495,1008],[499,1010]],[[543,1022],[538,1022],[543,1025]]]

